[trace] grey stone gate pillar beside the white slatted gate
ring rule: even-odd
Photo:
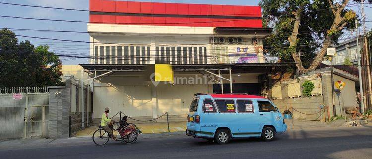
[[[66,86],[49,89],[48,136],[50,139],[69,137],[71,95]]]

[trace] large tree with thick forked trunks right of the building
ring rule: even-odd
[[[263,24],[274,28],[265,41],[270,47],[265,49],[273,56],[296,62],[300,73],[316,69],[326,48],[337,44],[344,31],[354,29],[358,17],[346,9],[348,3],[349,0],[262,0]],[[300,49],[306,53],[302,58],[297,53]],[[318,54],[310,62],[315,52]]]

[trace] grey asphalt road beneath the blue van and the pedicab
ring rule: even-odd
[[[140,136],[134,144],[110,141],[0,150],[1,159],[372,159],[372,126],[289,131],[272,142],[250,138],[226,145],[186,135]]]

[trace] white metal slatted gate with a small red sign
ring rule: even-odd
[[[0,88],[0,140],[48,137],[47,87]]]

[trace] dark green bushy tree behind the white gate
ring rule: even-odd
[[[15,34],[0,30],[0,87],[62,85],[62,62],[47,45],[18,44]]]

